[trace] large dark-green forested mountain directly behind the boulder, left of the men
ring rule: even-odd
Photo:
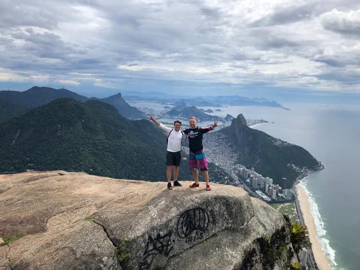
[[[127,120],[96,100],[57,99],[0,124],[0,138],[0,172],[66,170],[166,179],[161,129],[147,120]],[[188,170],[181,173],[190,177]]]

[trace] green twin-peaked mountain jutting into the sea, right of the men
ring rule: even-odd
[[[221,131],[239,152],[238,162],[254,168],[263,176],[273,178],[282,187],[291,187],[300,174],[294,166],[315,167],[318,161],[304,148],[276,139],[246,125],[242,114]],[[293,166],[294,165],[294,166]],[[287,180],[282,180],[285,177]]]

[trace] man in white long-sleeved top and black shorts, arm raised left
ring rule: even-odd
[[[181,186],[182,184],[177,181],[179,175],[179,166],[181,160],[181,140],[186,139],[186,135],[180,130],[181,122],[176,120],[174,127],[164,126],[159,121],[150,115],[150,120],[153,121],[157,126],[166,131],[167,133],[167,149],[166,149],[166,177],[167,177],[167,188],[172,190],[171,187],[171,171],[174,168],[174,186]]]

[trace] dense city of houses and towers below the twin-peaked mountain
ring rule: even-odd
[[[254,121],[254,124],[259,122]],[[249,125],[250,126],[250,125]],[[210,131],[203,137],[204,152],[210,162],[222,170],[226,176],[224,179],[213,179],[214,183],[230,184],[243,188],[250,196],[261,199],[272,205],[277,211],[288,215],[290,220],[296,221],[305,226],[302,212],[296,192],[293,188],[282,188],[273,183],[273,179],[264,177],[254,171],[254,168],[247,169],[241,164],[237,164],[238,155],[236,150],[224,143],[224,134]],[[182,147],[182,151],[189,153],[188,147]],[[186,157],[184,157],[186,159]],[[294,168],[298,170],[298,168]],[[306,176],[306,172],[301,172],[296,182]],[[302,269],[319,269],[311,248],[302,248],[299,251],[299,260]]]

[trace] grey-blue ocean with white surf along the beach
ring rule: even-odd
[[[360,269],[360,106],[282,105],[291,110],[227,106],[214,115],[242,113],[246,119],[267,120],[270,123],[253,128],[299,145],[322,161],[325,169],[311,172],[300,183],[311,200],[320,244],[333,269]]]

